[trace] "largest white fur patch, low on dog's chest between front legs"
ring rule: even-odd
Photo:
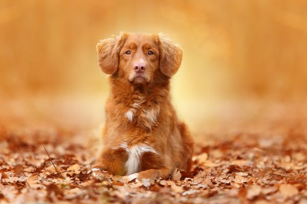
[[[137,173],[140,166],[140,158],[144,152],[151,152],[158,154],[155,149],[147,145],[135,145],[127,147],[126,144],[121,144],[120,147],[124,148],[128,152],[128,160],[125,163],[127,175]]]

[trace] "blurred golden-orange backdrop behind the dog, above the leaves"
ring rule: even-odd
[[[303,0],[2,0],[0,123],[97,127],[109,87],[96,43],[127,31],[181,44],[172,100],[195,135],[304,126],[306,9]]]

